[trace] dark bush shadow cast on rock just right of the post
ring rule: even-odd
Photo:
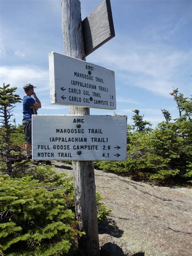
[[[104,222],[100,223],[99,226],[99,234],[108,234],[112,237],[122,237],[124,231],[121,230],[117,223],[112,219],[106,219]]]

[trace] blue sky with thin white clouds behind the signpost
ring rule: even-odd
[[[81,17],[102,0],[81,0]],[[173,87],[186,97],[191,84],[191,0],[111,0],[115,37],[87,56],[86,61],[115,71],[118,115],[139,109],[154,127],[164,118],[161,109],[178,117]],[[42,102],[38,114],[68,114],[68,107],[51,105],[49,60],[51,51],[64,53],[61,0],[0,0],[0,86],[37,85]],[[92,115],[113,110],[90,109]],[[14,110],[22,122],[22,104]]]

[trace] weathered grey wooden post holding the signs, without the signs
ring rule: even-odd
[[[85,60],[81,4],[79,0],[62,0],[62,31],[65,54]],[[69,107],[70,115],[89,115],[89,108]],[[92,161],[73,161],[75,184],[75,211],[79,226],[86,233],[79,239],[79,251],[83,256],[98,256],[98,222],[96,186]]]

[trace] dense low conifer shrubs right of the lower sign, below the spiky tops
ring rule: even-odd
[[[127,148],[126,161],[94,162],[96,168],[158,184],[192,179],[191,120],[162,122],[150,133],[129,133]]]

